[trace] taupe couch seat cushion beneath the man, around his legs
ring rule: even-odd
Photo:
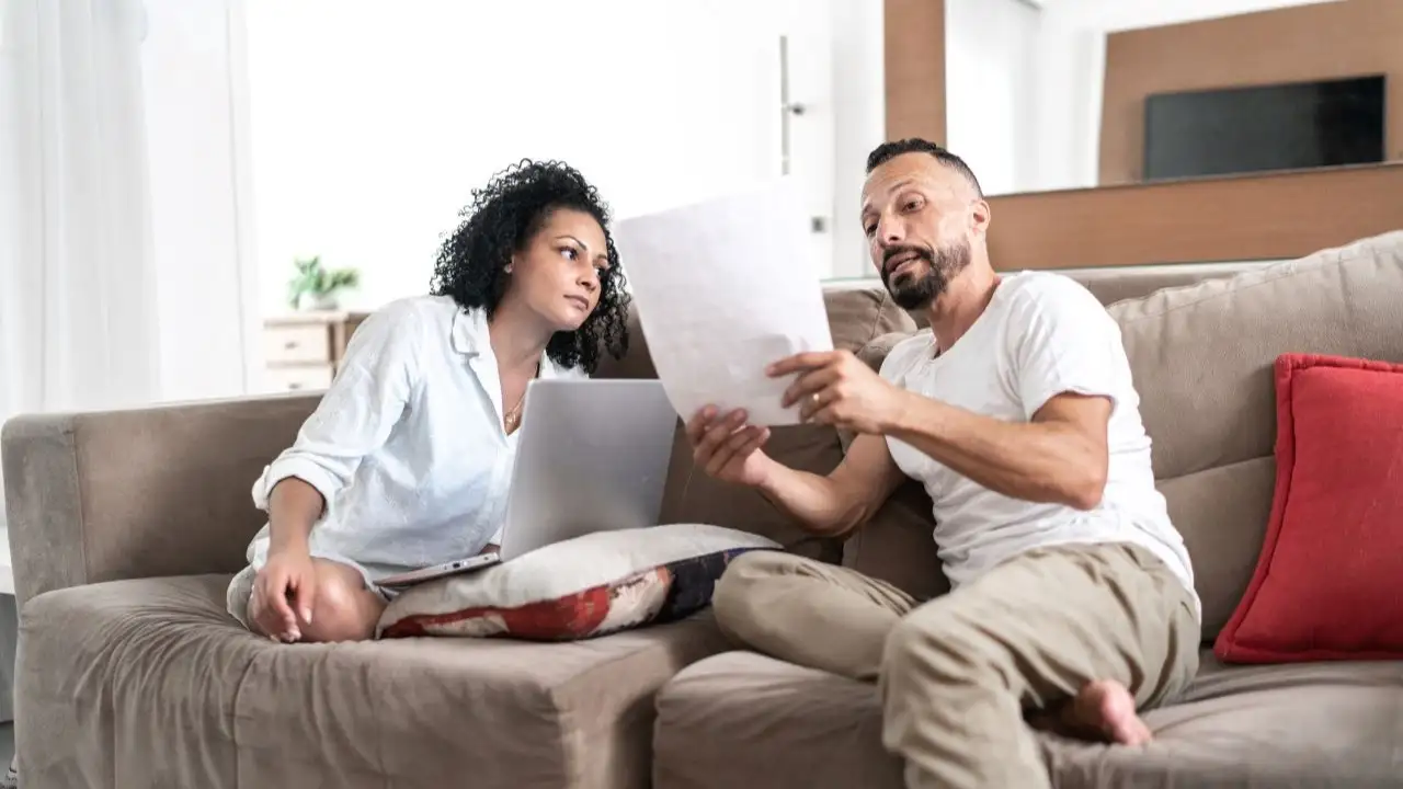
[[[1143,748],[1042,737],[1054,785],[1403,786],[1403,665],[1223,667],[1211,653]],[[669,789],[901,789],[875,685],[753,653],[710,657],[658,695],[654,782]]]

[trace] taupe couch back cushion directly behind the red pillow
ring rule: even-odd
[[[1400,302],[1403,232],[1110,306],[1155,476],[1194,560],[1205,639],[1247,588],[1267,526],[1273,364],[1288,352],[1400,362]]]

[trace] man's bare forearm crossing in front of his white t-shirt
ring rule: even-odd
[[[1089,510],[1104,487],[1104,451],[1073,428],[1009,423],[905,393],[888,432],[954,472],[1005,496]]]

